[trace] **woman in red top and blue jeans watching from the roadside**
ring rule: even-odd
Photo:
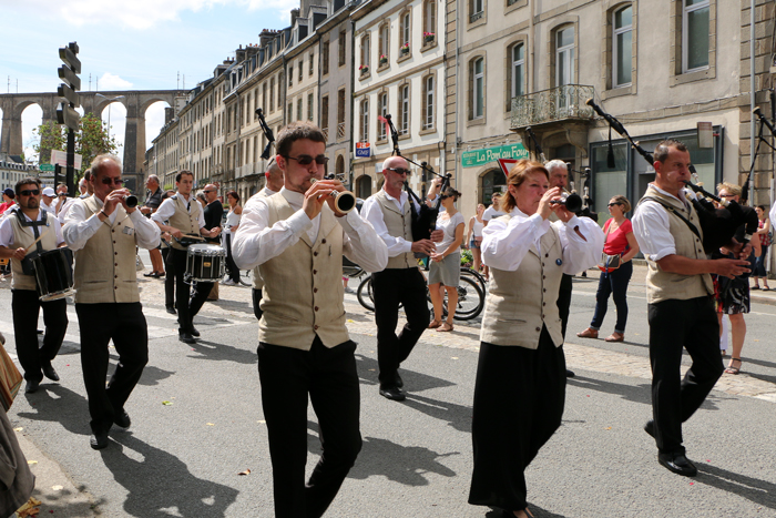
[[[627,322],[627,284],[633,275],[631,260],[639,253],[639,243],[633,235],[631,221],[625,214],[631,212],[631,203],[625,196],[617,194],[609,202],[609,213],[612,217],[603,225],[606,242],[603,245],[604,253],[620,255],[621,266],[611,272],[602,272],[599,280],[599,291],[595,294],[595,313],[590,327],[582,333],[576,333],[581,338],[598,338],[599,329],[606,316],[609,295],[613,295],[614,306],[617,308],[617,322],[614,333],[605,338],[606,342],[622,342],[625,339],[625,323]]]

